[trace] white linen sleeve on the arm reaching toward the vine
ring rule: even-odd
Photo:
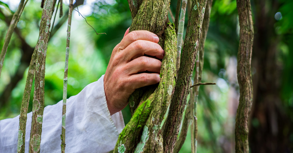
[[[65,152],[107,153],[114,149],[125,127],[122,113],[110,116],[104,91],[104,76],[67,99]],[[44,109],[40,153],[61,152],[62,101]],[[28,113],[25,153],[28,153],[32,112]],[[17,152],[19,115],[0,120],[0,153]]]

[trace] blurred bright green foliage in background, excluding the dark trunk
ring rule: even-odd
[[[271,29],[271,32],[278,34],[281,40],[276,55],[277,61],[283,69],[280,93],[282,95],[282,106],[285,108],[284,112],[288,114],[293,123],[293,2],[290,0],[280,0],[279,2],[280,7],[277,11],[282,13],[282,19],[276,21],[275,28]],[[68,69],[68,98],[79,93],[89,83],[97,81],[105,73],[113,48],[121,41],[125,30],[132,22],[127,1],[117,0],[109,3],[107,4],[106,1],[102,0],[87,5],[88,8],[93,8],[93,11],[87,16],[84,16],[82,12],[83,7],[79,7],[79,11],[86,17],[88,23],[98,33],[107,33],[107,35],[96,35],[84,19],[76,11],[73,12]],[[176,1],[171,1],[173,14],[175,14],[176,3]],[[0,1],[0,48],[3,46],[8,27],[5,20],[10,20],[13,11],[15,11],[11,10],[15,7],[8,4],[5,1]],[[64,2],[64,10],[68,9],[67,5]],[[255,20],[254,5],[252,5],[252,11]],[[17,25],[22,37],[30,47],[34,47],[38,40],[41,13],[40,2],[30,0],[26,4]],[[272,12],[272,17],[275,13],[277,12]],[[57,14],[59,14],[59,11],[57,11]],[[59,20],[59,18],[56,18],[55,25]],[[186,17],[185,29],[187,20]],[[236,109],[234,105],[228,102],[231,101],[231,95],[237,96],[239,87],[237,81],[231,80],[231,75],[234,72],[230,72],[228,66],[233,66],[231,61],[236,60],[239,43],[238,24],[236,0],[214,1],[205,43],[202,82],[216,82],[217,85],[200,86],[197,105],[198,152],[224,152],[226,151],[224,146],[232,146],[232,148],[234,146],[233,126],[235,121],[233,113],[236,113]],[[45,106],[53,105],[62,100],[66,29],[67,26],[64,24],[48,44]],[[11,77],[17,73],[17,68],[21,66],[21,68],[26,69],[25,65],[20,65],[23,56],[20,42],[21,40],[14,33],[8,46],[1,73],[0,95],[6,85],[12,81]],[[252,75],[255,75],[253,67],[252,72]],[[19,115],[26,75],[27,70],[23,73],[23,79],[12,90],[6,106],[0,108],[0,120]],[[34,86],[32,89],[34,89]],[[236,93],[232,93],[231,89],[235,89]],[[29,112],[32,110],[32,99],[33,92],[30,97]],[[122,113],[125,124],[127,124],[131,118],[129,106],[122,110]],[[259,121],[252,120],[252,125],[259,125]],[[293,134],[291,135],[293,144]],[[180,152],[190,152],[190,130]]]

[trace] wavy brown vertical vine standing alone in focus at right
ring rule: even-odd
[[[235,151],[248,153],[248,118],[252,105],[251,55],[253,44],[253,21],[250,0],[236,0],[240,40],[237,55],[237,78],[240,98],[235,123]]]

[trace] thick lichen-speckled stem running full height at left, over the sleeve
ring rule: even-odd
[[[33,99],[33,115],[30,131],[29,153],[39,153],[42,122],[44,112],[44,87],[45,87],[45,60],[47,54],[47,45],[49,38],[49,29],[53,15],[55,0],[46,0],[42,11],[42,20],[40,23],[40,33],[38,43],[35,48],[35,90]]]

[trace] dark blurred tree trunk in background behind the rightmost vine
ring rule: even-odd
[[[283,66],[277,58],[280,52],[277,46],[282,35],[276,34],[276,20],[273,18],[280,8],[279,3],[277,0],[255,1],[254,28],[257,32],[254,34],[252,64],[256,73],[253,75],[253,106],[249,127],[252,153],[290,152],[292,149],[289,137],[293,130],[292,120],[284,111],[286,102],[282,100],[280,92]]]

